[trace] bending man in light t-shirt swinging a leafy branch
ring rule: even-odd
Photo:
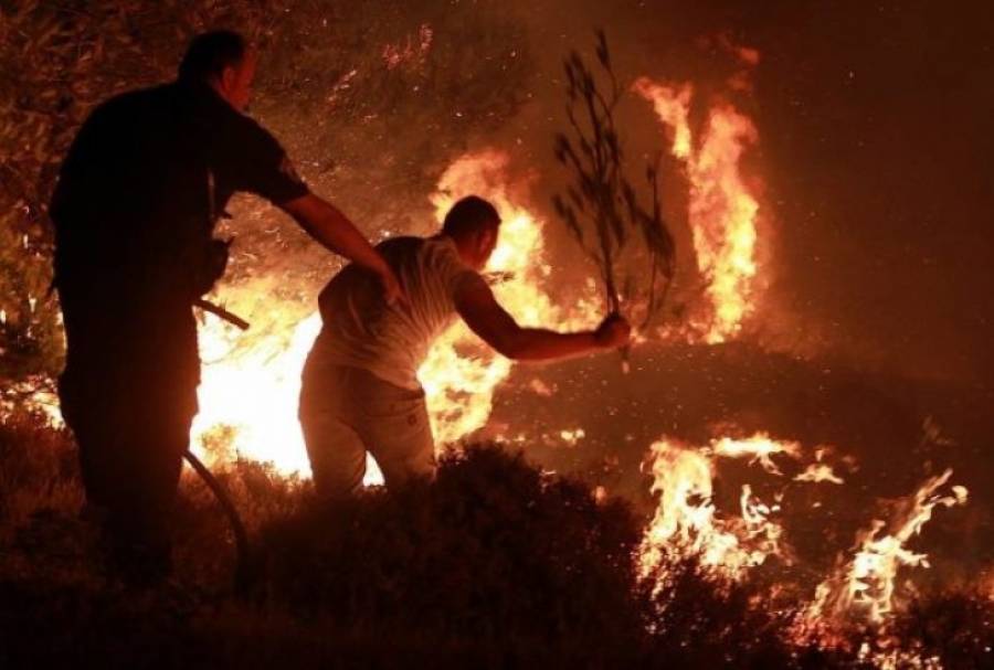
[[[452,208],[434,237],[395,237],[378,245],[409,304],[391,306],[374,276],[357,265],[321,291],[324,328],[304,366],[299,411],[321,497],[336,500],[357,491],[367,451],[388,488],[434,472],[434,439],[415,374],[456,317],[515,360],[562,359],[628,342],[628,323],[617,316],[590,332],[518,326],[479,274],[497,244],[499,224],[490,203],[469,196]]]

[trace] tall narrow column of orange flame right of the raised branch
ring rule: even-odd
[[[641,78],[635,91],[653,103],[669,129],[670,151],[686,166],[690,182],[688,220],[710,298],[710,313],[691,323],[692,334],[707,343],[723,342],[741,331],[754,309],[760,208],[740,162],[759,135],[749,117],[721,103],[710,109],[700,138],[695,138],[689,84],[673,87]]]

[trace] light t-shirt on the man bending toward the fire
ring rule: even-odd
[[[355,264],[321,291],[324,328],[308,368],[349,365],[404,389],[420,389],[417,368],[435,338],[456,318],[457,289],[480,280],[459,257],[451,237],[394,237],[377,245],[408,295],[409,306],[390,307],[379,279]]]

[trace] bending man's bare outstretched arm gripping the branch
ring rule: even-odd
[[[517,361],[543,361],[617,349],[628,343],[631,327],[622,317],[604,319],[596,330],[554,332],[521,328],[494,298],[480,277],[463,283],[455,295],[456,310],[469,329],[497,352]]]

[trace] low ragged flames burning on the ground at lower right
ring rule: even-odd
[[[815,450],[815,461],[793,478],[793,481],[828,481],[843,483],[824,462],[828,447]],[[776,521],[781,496],[773,504],[764,503],[749,485],[742,487],[739,515],[720,512],[712,500],[713,482],[721,458],[751,458],[769,474],[782,477],[772,457],[802,460],[799,443],[776,440],[759,434],[747,439],[720,437],[702,447],[691,447],[666,438],[651,447],[654,483],[658,508],[647,527],[639,547],[639,568],[652,586],[662,587],[668,565],[695,559],[720,586],[743,581],[750,570],[776,557],[791,562],[790,545],[783,527]],[[901,604],[902,589],[910,583],[899,583],[903,568],[928,567],[928,555],[909,549],[909,542],[931,520],[937,508],[964,504],[967,491],[961,486],[948,486],[952,470],[928,479],[912,496],[895,504],[891,523],[875,520],[857,538],[850,561],[840,564],[815,589],[810,603],[789,634],[799,644],[814,641],[823,648],[846,646],[854,639],[846,631],[853,624],[864,627],[866,644],[858,651],[860,661],[877,668],[933,668],[938,659],[924,657],[914,648],[901,646],[888,625]],[[889,533],[885,532],[889,529]],[[909,592],[913,593],[913,592]],[[770,593],[775,598],[776,589]],[[761,597],[757,606],[771,606]],[[866,637],[870,636],[870,637]]]

